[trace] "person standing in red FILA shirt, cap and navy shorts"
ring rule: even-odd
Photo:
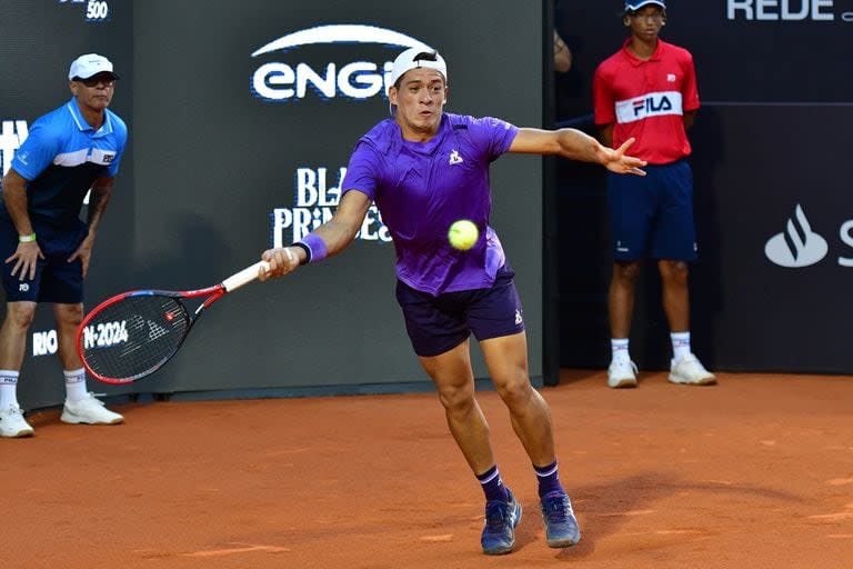
[[[696,71],[690,52],[659,38],[666,23],[664,0],[629,0],[622,23],[630,30],[622,49],[595,70],[595,123],[608,147],[625,140],[649,162],[645,178],[610,176],[608,204],[613,234],[613,277],[609,309],[612,360],[608,385],[636,386],[629,355],[634,286],[640,260],[658,260],[663,309],[670,325],[669,380],[706,386],[716,382],[690,348],[688,262],[696,259],[693,226],[693,172],[686,130],[699,109]]]

